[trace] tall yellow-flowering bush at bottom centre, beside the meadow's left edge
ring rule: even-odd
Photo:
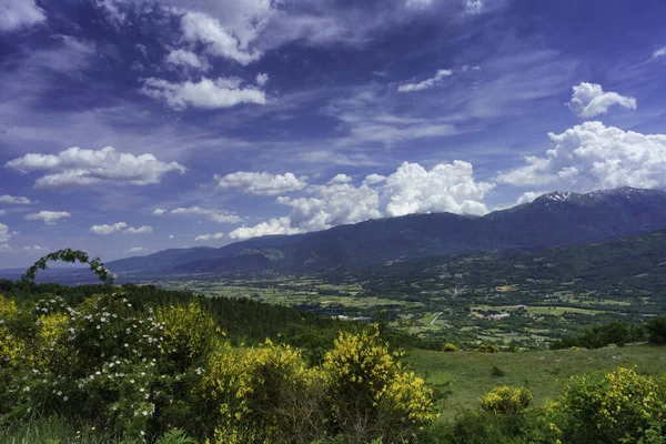
[[[393,442],[434,418],[432,391],[405,373],[400,359],[376,326],[340,333],[323,362],[337,432],[357,442]]]

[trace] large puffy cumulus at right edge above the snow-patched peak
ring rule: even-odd
[[[666,188],[666,134],[642,134],[585,122],[562,134],[549,133],[554,148],[543,158],[497,180],[514,185],[552,184],[587,192],[618,186]]]

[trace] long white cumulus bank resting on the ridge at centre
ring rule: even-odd
[[[438,164],[430,171],[417,163],[405,162],[389,176],[370,174],[360,186],[332,181],[309,186],[304,196],[279,196],[278,204],[291,206],[289,216],[243,226],[231,232],[230,238],[297,234],[414,213],[485,214],[488,210],[483,199],[494,186],[476,182],[467,162]]]

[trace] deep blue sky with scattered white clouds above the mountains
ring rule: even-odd
[[[0,0],[0,269],[666,189],[663,0]]]

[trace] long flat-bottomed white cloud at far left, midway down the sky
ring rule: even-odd
[[[36,170],[52,172],[38,179],[37,188],[89,185],[103,181],[148,185],[159,183],[170,171],[185,173],[180,163],[162,162],[152,154],[119,153],[112,147],[98,151],[74,147],[57,155],[30,153],[4,165],[22,173]]]

